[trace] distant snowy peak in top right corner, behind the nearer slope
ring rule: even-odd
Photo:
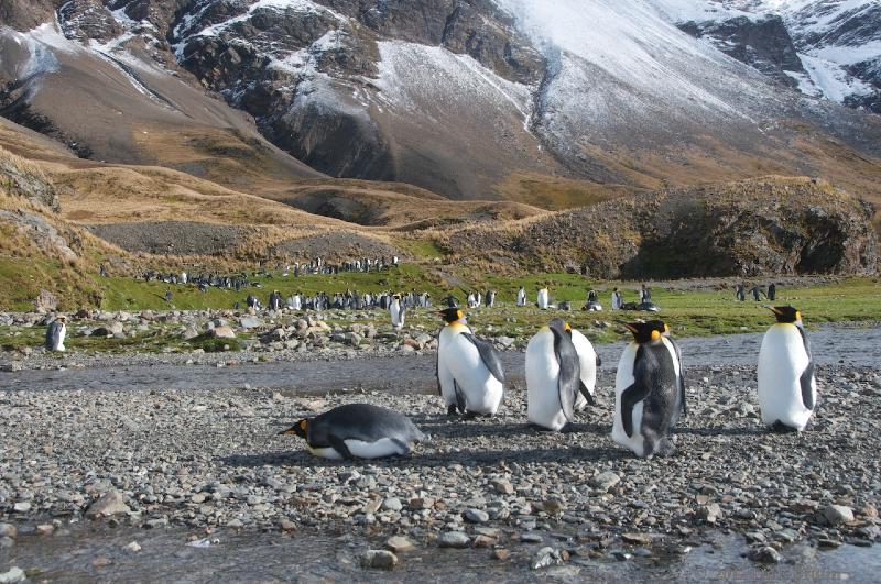
[[[881,113],[878,0],[654,0],[684,31],[803,93]],[[785,77],[784,77],[785,76]]]

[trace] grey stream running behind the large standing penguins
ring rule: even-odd
[[[874,366],[881,355],[881,329],[827,328],[809,334],[819,365]],[[684,366],[747,365],[755,363],[761,334],[683,339]],[[623,343],[600,345],[602,368],[614,371]],[[230,359],[235,359],[231,355]],[[524,377],[523,353],[502,355],[505,375]],[[217,389],[261,387],[297,394],[365,389],[401,394],[427,394],[437,389],[435,355],[318,361],[300,363],[242,363],[216,365],[132,365],[67,371],[28,371],[0,374],[0,390],[10,389]]]

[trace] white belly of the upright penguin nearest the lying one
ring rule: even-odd
[[[440,332],[438,351],[438,373],[439,370],[449,372],[449,376],[455,379],[465,395],[466,409],[470,414],[496,415],[504,395],[502,383],[493,377],[487,368],[480,352],[468,339],[461,335],[463,332],[471,332],[465,326],[445,327]],[[442,376],[442,392],[447,398],[447,405],[456,403],[455,388],[444,388]],[[452,385],[447,383],[447,385]],[[450,399],[452,398],[452,399]]]

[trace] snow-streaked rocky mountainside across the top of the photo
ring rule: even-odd
[[[650,187],[819,172],[797,151],[792,128],[805,125],[878,147],[877,122],[815,99],[877,111],[878,0],[34,0],[25,12],[0,11],[18,29],[0,35],[0,112],[100,157],[137,156],[122,134],[154,120],[238,129],[203,88],[312,168],[455,198],[501,196],[511,177]],[[106,101],[101,79],[120,96],[107,111],[139,121],[107,121],[116,142],[47,99]]]

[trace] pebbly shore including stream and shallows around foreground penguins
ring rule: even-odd
[[[840,573],[866,576],[881,536],[881,331],[812,334],[820,405],[802,434],[760,425],[760,339],[683,340],[689,415],[677,454],[648,461],[609,438],[620,344],[599,346],[597,405],[561,434],[526,427],[516,350],[503,354],[502,411],[475,420],[445,415],[431,341],[302,362],[72,354],[79,364],[66,371],[35,351],[24,371],[0,374],[0,577],[15,566],[36,580],[124,579],[126,565],[143,570],[165,552],[233,548],[276,568],[301,565],[291,550],[303,548],[303,562],[324,558],[317,580],[383,569],[437,577],[456,554],[475,577],[514,581],[539,577],[533,570],[687,580],[679,571],[696,562],[706,574],[824,581],[838,573],[834,554],[848,553],[860,560]],[[336,463],[276,436],[355,401],[406,412],[432,439],[410,458]],[[48,553],[56,548],[69,553]],[[177,563],[163,570],[209,579],[208,561]],[[291,577],[255,570],[240,577]]]

